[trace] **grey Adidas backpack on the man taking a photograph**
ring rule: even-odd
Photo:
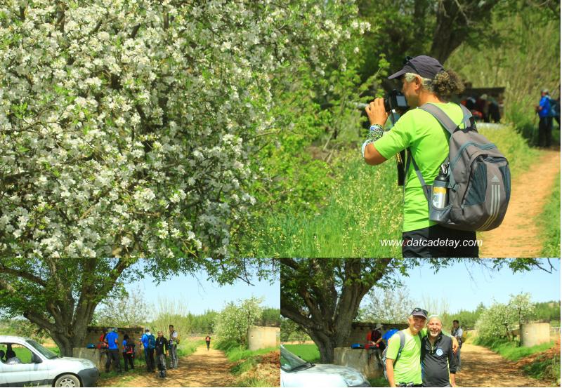
[[[459,128],[443,110],[433,104],[423,109],[433,115],[451,136],[446,187],[448,201],[443,208],[436,208],[431,201],[432,189],[426,185],[411,152],[406,163],[414,166],[424,189],[429,220],[451,229],[484,231],[499,227],[504,220],[511,194],[509,163],[497,147],[476,131],[474,118],[464,105],[464,128]]]

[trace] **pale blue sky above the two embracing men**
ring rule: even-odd
[[[488,307],[492,299],[506,303],[509,294],[530,293],[532,302],[560,300],[560,259],[551,259],[550,262],[555,268],[552,274],[538,269],[517,274],[508,268],[494,272],[480,265],[465,267],[461,263],[437,274],[424,265],[412,269],[409,277],[401,279],[404,279],[412,300],[419,303],[443,300],[448,304],[449,311],[455,313],[462,309],[476,309],[480,302]]]

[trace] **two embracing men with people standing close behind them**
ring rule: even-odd
[[[393,330],[388,347],[381,328],[377,325],[367,340],[391,387],[457,386],[463,337],[458,320],[453,321],[451,335],[447,335],[439,316],[428,317],[426,310],[415,308],[408,317],[408,328]]]

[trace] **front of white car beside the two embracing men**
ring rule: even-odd
[[[359,370],[333,364],[313,364],[281,345],[281,387],[370,387]]]

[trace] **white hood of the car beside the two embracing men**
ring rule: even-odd
[[[348,366],[334,364],[317,364],[312,368],[297,370],[296,372],[290,372],[288,374],[299,375],[299,377],[304,377],[306,380],[315,382],[317,386],[325,387],[340,387],[341,382],[344,382],[347,387],[353,387],[365,382],[365,376],[358,370],[349,368]],[[308,386],[310,386],[310,384],[308,384]]]

